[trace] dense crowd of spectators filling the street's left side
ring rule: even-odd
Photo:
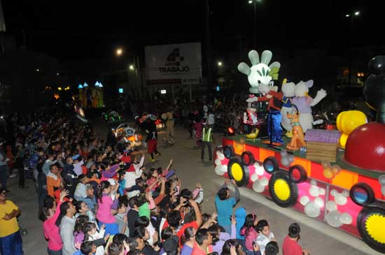
[[[145,152],[130,143],[118,146],[112,139],[101,140],[90,124],[73,122],[55,108],[10,115],[6,136],[0,145],[2,255],[23,254],[20,209],[6,199],[13,192],[7,187],[8,168],[18,168],[20,189],[28,188],[26,177],[35,180],[49,255],[279,252],[267,220],[244,207],[233,214],[240,200],[235,180],[225,180],[215,197],[217,212],[207,214],[201,212],[202,185],[197,183],[194,190],[183,187],[172,159],[165,168],[146,169]],[[4,145],[15,153],[12,162]],[[283,254],[309,254],[299,239],[300,226],[290,225]]]

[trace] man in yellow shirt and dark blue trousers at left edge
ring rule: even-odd
[[[1,186],[1,185],[0,185]],[[0,187],[0,254],[22,255],[22,236],[18,224],[20,209],[7,200],[6,190]]]

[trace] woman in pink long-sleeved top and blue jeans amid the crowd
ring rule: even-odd
[[[106,232],[104,235],[115,235],[119,233],[118,224],[113,214],[118,212],[118,198],[119,193],[115,195],[115,200],[112,201],[111,184],[108,181],[100,182],[99,191],[97,194],[97,219],[99,220],[99,228],[102,225],[106,226]]]

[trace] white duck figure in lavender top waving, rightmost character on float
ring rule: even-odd
[[[297,106],[300,112],[300,124],[304,132],[313,128],[313,115],[311,115],[311,107],[319,103],[327,95],[324,89],[318,90],[316,97],[312,99],[308,96],[309,88],[313,87],[313,80],[303,82],[302,80],[295,85],[295,97],[291,103]]]

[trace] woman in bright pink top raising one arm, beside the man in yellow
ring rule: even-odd
[[[45,239],[48,240],[48,255],[62,254],[63,242],[62,238],[60,238],[59,226],[56,225],[56,220],[60,214],[60,205],[64,201],[64,197],[68,196],[68,194],[68,191],[63,190],[60,193],[60,200],[56,207],[54,205],[52,208],[43,207],[42,209],[41,219],[44,221],[43,233]]]

